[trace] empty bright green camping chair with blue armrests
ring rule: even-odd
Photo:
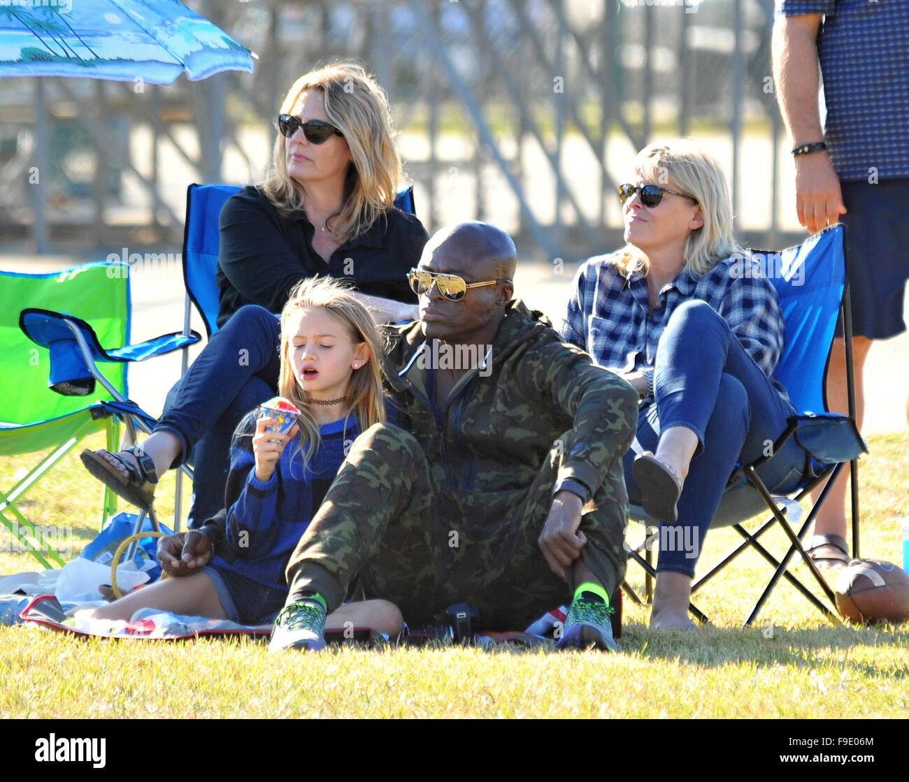
[[[165,334],[129,344],[132,302],[125,263],[87,263],[50,274],[0,272],[0,284],[6,301],[15,302],[0,312],[0,454],[49,451],[15,486],[0,490],[0,523],[51,568],[63,559],[26,518],[26,493],[53,491],[53,468],[87,435],[106,431],[106,447],[116,450],[119,421],[126,421],[134,439],[134,421],[147,430],[154,419],[128,399],[128,363],[200,337]],[[113,515],[115,500],[105,490],[102,524]]]

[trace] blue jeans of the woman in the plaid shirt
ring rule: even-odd
[[[678,502],[679,528],[666,530],[661,524],[660,530],[661,541],[685,545],[661,545],[657,570],[694,576],[694,563],[736,462],[761,457],[783,433],[794,409],[706,302],[684,302],[675,310],[657,345],[654,368],[655,402],[641,410],[638,442],[655,452],[660,432],[674,426],[684,426],[698,438]],[[639,501],[634,456],[634,451],[625,454],[624,473],[630,499]],[[788,493],[802,480],[805,467],[804,450],[790,438],[757,473],[769,490]]]

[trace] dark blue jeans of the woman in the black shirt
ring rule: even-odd
[[[237,310],[172,388],[155,431],[174,434],[195,472],[189,526],[197,527],[225,506],[230,444],[246,413],[275,396],[281,363],[280,322],[264,307]]]

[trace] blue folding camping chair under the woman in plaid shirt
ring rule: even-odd
[[[757,251],[760,252],[760,251]],[[714,569],[698,579],[692,593],[724,569],[735,557],[749,547],[756,550],[774,567],[774,576],[757,600],[744,624],[751,625],[769,598],[779,579],[787,579],[805,599],[820,610],[834,624],[839,619],[834,610],[814,596],[810,589],[795,578],[789,571],[789,563],[797,553],[811,571],[814,579],[824,592],[824,596],[835,609],[834,592],[830,589],[814,561],[805,553],[802,546],[804,535],[814,522],[818,511],[824,504],[827,494],[833,486],[836,476],[844,464],[851,462],[852,470],[852,510],[853,510],[853,556],[859,556],[859,512],[857,460],[867,448],[855,426],[855,407],[852,376],[852,318],[849,307],[848,285],[845,278],[844,226],[834,225],[823,232],[812,236],[803,244],[783,252],[764,252],[768,268],[779,298],[785,321],[785,343],[783,355],[776,368],[776,377],[789,391],[789,398],[798,415],[788,422],[783,434],[774,443],[771,454],[778,453],[784,443],[795,438],[806,452],[811,468],[804,476],[802,484],[794,497],[774,498],[764,486],[764,482],[755,470],[773,456],[762,457],[751,464],[738,465],[721,500],[720,507],[711,523],[712,528],[733,527],[744,542],[729,553]],[[846,368],[849,387],[849,415],[838,415],[827,411],[824,397],[824,377],[830,352],[833,347],[836,320],[842,314],[846,343]],[[797,504],[807,497],[815,487],[824,484],[814,507],[805,517],[801,528],[796,533],[793,525],[796,517],[801,516],[802,509]],[[783,508],[780,508],[780,505]],[[744,529],[742,522],[759,513],[770,510],[773,516],[764,522],[754,533]],[[648,525],[657,522],[650,519],[640,506],[634,504],[630,509],[633,520]],[[764,532],[779,524],[790,541],[790,548],[782,560],[777,560],[758,540]],[[645,544],[629,552],[632,559],[638,562],[645,571],[646,592],[652,594],[652,579],[656,572],[653,567],[652,553],[646,547],[645,556],[640,550]],[[640,602],[640,599],[625,585],[626,593]],[[696,619],[707,618],[694,605],[689,607]]]

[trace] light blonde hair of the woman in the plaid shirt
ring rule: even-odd
[[[729,185],[719,163],[688,139],[645,146],[634,158],[634,172],[649,183],[694,196],[704,225],[688,234],[684,265],[695,276],[709,272],[716,262],[744,252],[733,236],[733,205]],[[617,261],[624,271],[646,272],[644,254],[626,244]]]

